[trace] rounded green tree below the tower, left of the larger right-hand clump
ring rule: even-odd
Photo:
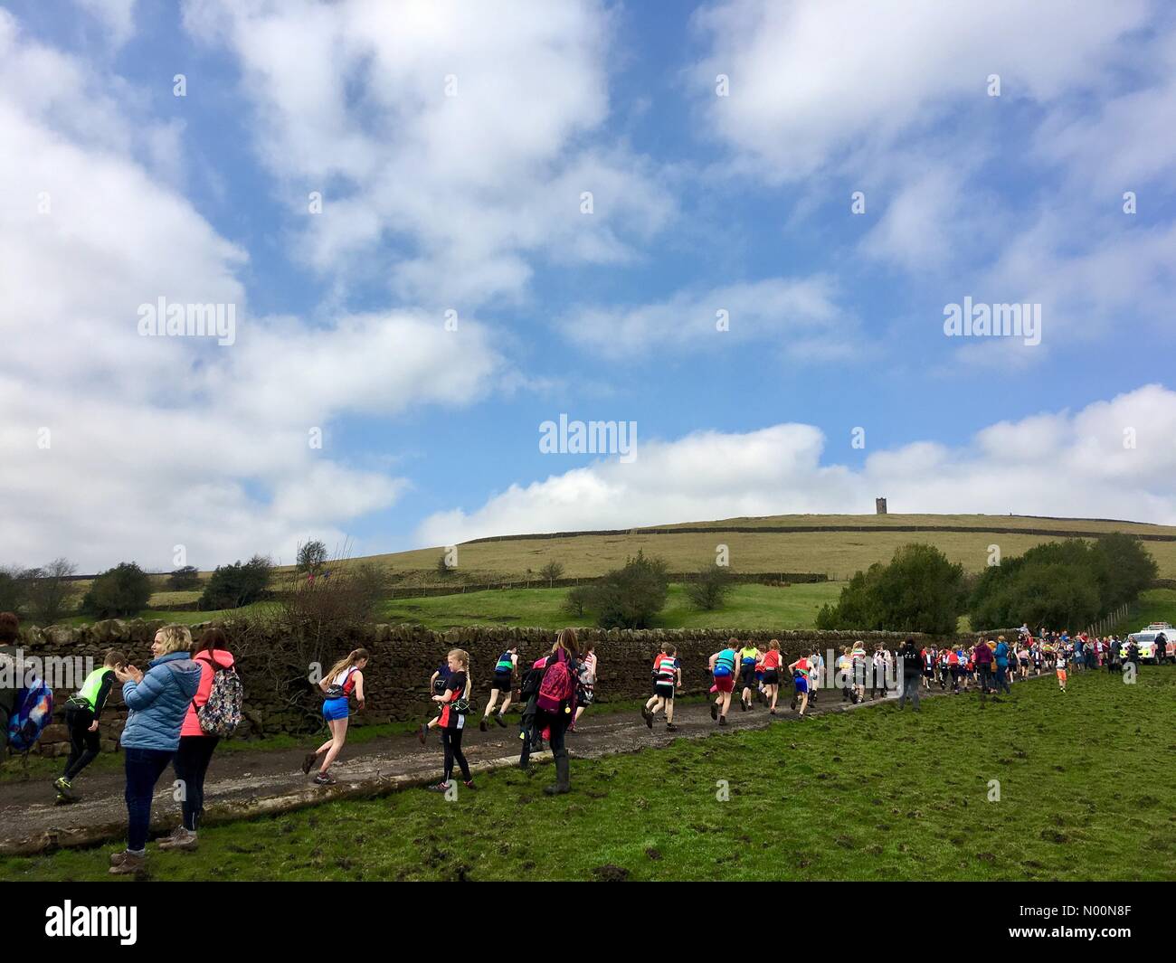
[[[934,546],[901,546],[883,566],[858,571],[836,606],[817,613],[818,629],[884,629],[951,635],[964,608],[963,567]]]

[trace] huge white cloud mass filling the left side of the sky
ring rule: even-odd
[[[421,312],[252,314],[246,253],[140,161],[153,131],[120,109],[121,81],[2,11],[0,74],[0,563],[168,568],[182,544],[212,566],[342,542],[408,482],[333,449],[338,420],[466,404],[502,374],[470,316],[446,332]],[[236,342],[140,336],[139,306],[161,296],[233,305]]]

